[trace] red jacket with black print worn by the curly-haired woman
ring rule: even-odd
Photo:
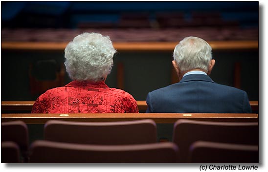
[[[132,95],[104,82],[72,81],[47,90],[32,113],[138,113],[138,107]]]

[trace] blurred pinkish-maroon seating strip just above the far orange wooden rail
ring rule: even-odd
[[[195,35],[206,41],[258,41],[258,28],[169,28],[169,29],[1,29],[2,42],[68,43],[83,32],[109,35],[116,42],[176,42],[185,35]]]

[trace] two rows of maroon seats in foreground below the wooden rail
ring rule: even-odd
[[[255,122],[180,119],[174,124],[173,141],[164,143],[157,142],[156,123],[150,119],[50,120],[45,123],[45,140],[35,141],[30,149],[27,126],[22,121],[2,122],[1,134],[2,163],[259,162],[258,123]],[[21,160],[18,158],[20,151]],[[17,158],[12,159],[12,155]]]

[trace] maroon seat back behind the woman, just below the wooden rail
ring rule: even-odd
[[[157,141],[156,123],[151,119],[121,122],[45,123],[45,140],[80,144],[146,144]]]

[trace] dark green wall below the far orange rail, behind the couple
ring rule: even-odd
[[[171,84],[172,51],[118,52],[106,83],[117,87],[117,63],[124,64],[124,90],[136,100],[145,100],[147,93]],[[258,50],[213,51],[216,64],[211,78],[223,85],[233,86],[234,64],[241,63],[241,89],[246,90],[249,100],[258,100],[259,58]],[[64,52],[1,52],[1,100],[35,100],[30,94],[29,64],[40,59],[64,62]],[[70,81],[66,75],[65,83]]]

